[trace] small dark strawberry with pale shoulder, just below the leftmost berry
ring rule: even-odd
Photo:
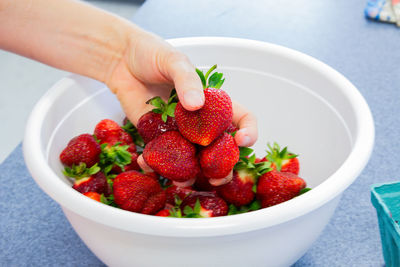
[[[102,172],[97,172],[89,177],[77,179],[72,188],[82,194],[87,192],[96,192],[108,195],[110,191],[107,178]]]

